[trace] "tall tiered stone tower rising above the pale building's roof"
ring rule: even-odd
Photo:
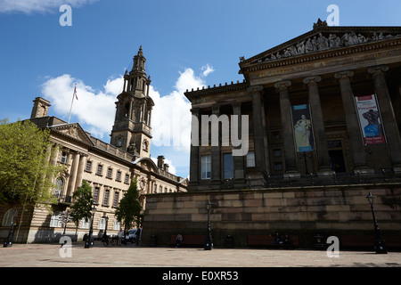
[[[123,91],[117,96],[116,118],[110,144],[140,158],[151,158],[151,77],[146,77],[142,45],[134,64],[124,75]]]

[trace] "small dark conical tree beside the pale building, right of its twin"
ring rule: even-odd
[[[127,231],[131,227],[140,225],[142,207],[139,202],[139,192],[136,186],[136,178],[131,182],[124,197],[119,201],[119,206],[116,208],[116,218],[120,223],[124,224]]]

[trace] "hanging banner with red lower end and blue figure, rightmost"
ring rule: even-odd
[[[364,135],[364,144],[385,143],[381,114],[377,107],[375,95],[356,96],[355,101],[359,124]]]

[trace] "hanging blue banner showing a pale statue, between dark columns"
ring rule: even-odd
[[[292,124],[294,126],[296,151],[313,151],[314,138],[309,106],[307,104],[292,106]]]

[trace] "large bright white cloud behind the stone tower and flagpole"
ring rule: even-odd
[[[116,112],[115,102],[122,91],[123,82],[122,76],[111,77],[99,91],[69,74],[45,77],[42,95],[52,104],[51,112],[55,116],[68,120],[74,85],[77,84],[78,101],[73,102],[70,122],[78,122],[95,137],[109,142],[108,135]],[[187,169],[189,166],[191,102],[186,99],[184,92],[205,85],[202,74],[196,76],[189,68],[179,72],[174,90],[170,94],[162,96],[151,85],[149,94],[155,103],[151,111],[151,153],[161,152],[166,157],[174,157],[174,164],[165,159],[170,173],[176,174],[178,168]]]

